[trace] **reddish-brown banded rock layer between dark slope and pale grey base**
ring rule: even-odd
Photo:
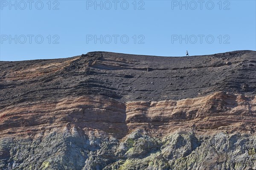
[[[175,130],[198,133],[225,130],[254,132],[256,96],[216,92],[203,97],[159,102],[118,102],[103,96],[31,102],[2,109],[0,135],[35,134],[76,125],[122,137],[137,128],[156,136]]]

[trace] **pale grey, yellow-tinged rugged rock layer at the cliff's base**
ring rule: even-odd
[[[253,170],[256,136],[177,131],[162,139],[135,130],[123,139],[76,127],[0,139],[2,170]]]

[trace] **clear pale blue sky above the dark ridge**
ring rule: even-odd
[[[184,56],[187,50],[192,56],[256,50],[256,0],[0,0],[0,5],[1,61],[90,51]]]

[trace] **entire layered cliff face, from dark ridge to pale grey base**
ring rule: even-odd
[[[255,57],[0,62],[0,169],[256,169]]]

